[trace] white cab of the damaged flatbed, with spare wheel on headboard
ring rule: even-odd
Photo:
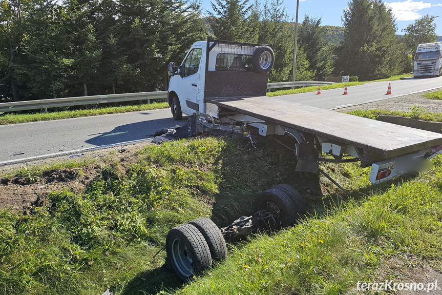
[[[273,50],[263,44],[195,42],[179,66],[169,64],[167,99],[174,119],[207,113],[205,97],[265,95],[274,61]]]

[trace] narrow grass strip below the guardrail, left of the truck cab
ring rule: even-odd
[[[50,121],[77,117],[96,116],[104,114],[127,113],[135,111],[155,110],[169,108],[167,103],[153,103],[134,106],[106,107],[89,110],[71,110],[51,113],[10,114],[0,115],[0,125],[17,124],[36,121]]]

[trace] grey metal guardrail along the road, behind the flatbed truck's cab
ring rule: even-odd
[[[305,86],[330,85],[330,84],[334,83],[321,82],[321,81],[278,82],[278,83],[268,83],[267,89],[303,87],[303,86],[305,87]],[[78,96],[78,97],[65,97],[63,99],[1,103],[0,112],[14,112],[14,111],[25,111],[25,110],[35,110],[35,109],[44,109],[47,112],[48,108],[130,102],[130,101],[140,101],[140,100],[147,100],[148,103],[150,103],[150,100],[158,100],[158,99],[164,99],[164,100],[167,99],[167,91]]]

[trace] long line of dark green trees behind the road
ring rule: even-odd
[[[291,80],[294,23],[283,0],[0,0],[0,102],[163,90],[167,63],[207,35],[272,44],[271,82]],[[262,1],[262,2],[261,2]],[[321,18],[299,26],[296,80],[332,74],[362,80],[410,71],[410,54],[435,41],[430,16],[402,40],[379,0],[352,0],[343,31]],[[338,37],[344,36],[343,41]],[[412,70],[412,68],[411,68]]]

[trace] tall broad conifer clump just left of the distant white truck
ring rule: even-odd
[[[344,11],[345,39],[336,51],[337,70],[362,80],[401,72],[393,14],[378,0],[352,0]],[[403,53],[401,53],[404,55]]]

